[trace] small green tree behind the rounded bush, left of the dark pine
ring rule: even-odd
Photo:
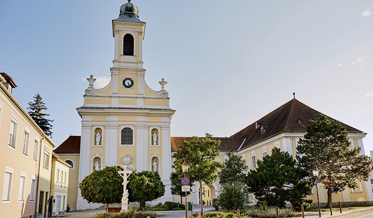
[[[228,159],[225,160],[225,168],[221,169],[219,174],[219,184],[233,185],[245,183],[247,166],[241,156],[235,155],[232,151],[227,153]]]

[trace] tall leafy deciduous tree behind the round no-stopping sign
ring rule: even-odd
[[[180,149],[173,155],[175,161],[172,167],[178,175],[184,175],[182,163],[186,159],[189,163],[187,177],[190,183],[199,182],[199,200],[201,214],[203,214],[202,182],[211,184],[218,178],[217,170],[224,167],[224,163],[215,161],[220,151],[219,140],[214,140],[212,135],[206,133],[206,138],[200,140],[198,137],[191,137],[190,141],[184,141]]]

